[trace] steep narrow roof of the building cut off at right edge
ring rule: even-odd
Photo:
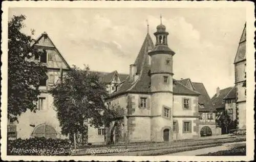
[[[234,63],[238,63],[245,59],[246,59],[246,23],[244,26],[242,36],[239,41],[237,54],[236,54],[236,57],[234,58]]]

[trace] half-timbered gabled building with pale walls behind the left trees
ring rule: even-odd
[[[16,131],[17,138],[46,137],[66,138],[62,135],[57,113],[53,105],[53,97],[48,93],[51,85],[58,82],[62,75],[69,70],[70,66],[57,50],[46,32],[42,33],[32,44],[33,48],[42,52],[40,56],[33,56],[31,60],[41,62],[47,66],[48,80],[41,80],[41,91],[37,102],[36,113],[27,110],[18,117],[18,123],[9,123],[8,132]],[[12,128],[12,129],[11,129]]]

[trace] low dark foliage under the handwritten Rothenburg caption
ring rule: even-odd
[[[29,138],[21,140],[18,138],[14,141],[7,142],[7,155],[70,155],[73,145],[68,140]]]

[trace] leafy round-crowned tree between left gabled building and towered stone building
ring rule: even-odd
[[[99,76],[91,72],[88,66],[84,70],[73,66],[50,93],[54,98],[62,134],[74,135],[86,131],[86,121],[91,126],[103,126],[103,113],[108,111],[103,98],[107,93]]]

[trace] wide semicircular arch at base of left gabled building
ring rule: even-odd
[[[46,138],[57,138],[57,132],[56,130],[49,125],[46,124],[40,124],[37,127],[35,127],[33,133],[33,137],[46,137]]]

